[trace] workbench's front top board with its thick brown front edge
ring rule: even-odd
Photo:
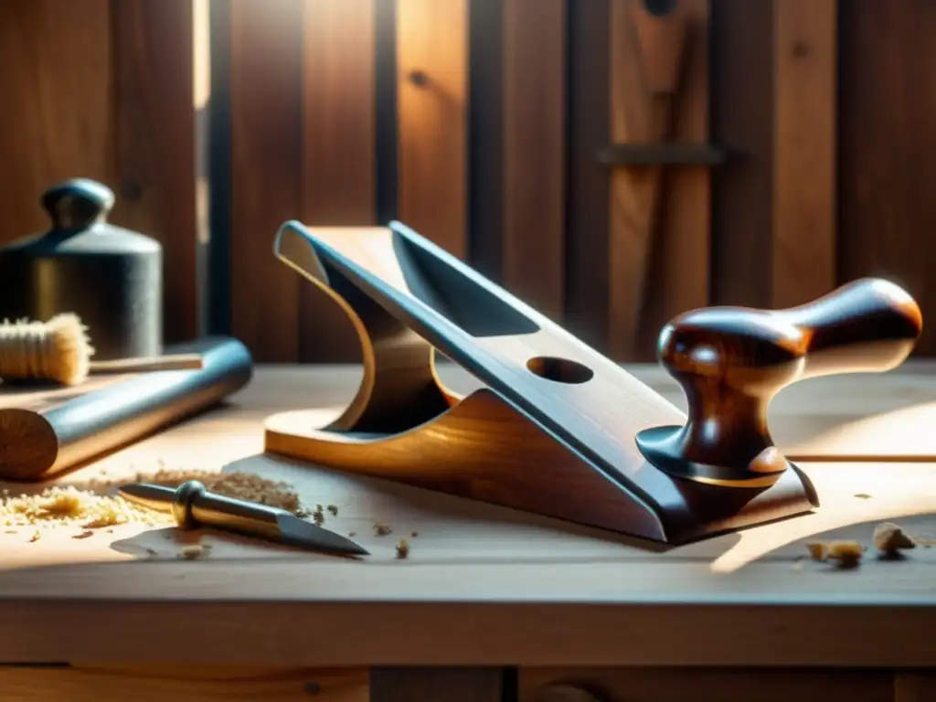
[[[201,537],[213,547],[207,558],[180,561],[171,531],[143,525],[78,540],[66,528],[35,543],[22,531],[0,534],[0,659],[279,666],[936,662],[936,641],[927,636],[936,624],[929,578],[936,549],[917,548],[902,562],[869,554],[849,572],[803,559],[808,540],[867,544],[885,519],[932,538],[936,463],[803,464],[823,499],[816,514],[661,552],[493,505],[249,458],[262,443],[260,421],[274,409],[314,405],[323,423],[334,417],[354,392],[347,373],[354,371],[261,369],[227,409],[69,480],[101,471],[126,478],[159,461],[221,469],[241,460],[225,470],[282,478],[312,505],[337,505],[338,516],[326,526],[356,532],[372,550],[366,563],[214,533]],[[447,382],[452,373],[443,373]],[[373,534],[376,520],[393,534]],[[395,550],[400,537],[411,544],[402,561]],[[48,636],[65,618],[81,632],[80,644],[73,636]],[[622,632],[632,632],[628,640],[639,645],[622,645]],[[753,637],[769,645],[738,646]]]

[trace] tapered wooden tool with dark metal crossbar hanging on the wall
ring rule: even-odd
[[[611,129],[622,142],[598,160],[611,172],[610,353],[633,358],[646,314],[651,264],[665,223],[665,169],[712,166],[724,154],[709,144],[673,141],[685,63],[697,32],[686,0],[614,0]],[[696,304],[704,303],[696,300]],[[684,308],[680,308],[682,311]],[[662,324],[662,321],[660,322]]]

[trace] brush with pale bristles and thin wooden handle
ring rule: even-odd
[[[77,314],[56,314],[48,322],[0,323],[0,378],[51,380],[80,385],[90,373],[145,373],[202,368],[197,354],[93,361],[95,349]]]

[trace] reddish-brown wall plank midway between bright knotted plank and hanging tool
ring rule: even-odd
[[[566,0],[504,3],[505,287],[562,321]]]

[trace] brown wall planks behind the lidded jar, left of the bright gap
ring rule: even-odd
[[[163,244],[168,342],[199,329],[196,11],[196,0],[0,6],[0,244],[48,228],[38,199],[52,183],[108,184],[110,221]]]

